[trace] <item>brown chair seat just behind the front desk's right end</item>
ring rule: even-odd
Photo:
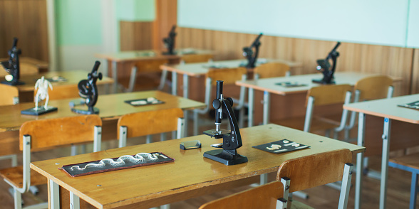
[[[292,129],[299,129],[301,131],[304,130],[304,117],[293,117],[289,119],[281,119],[278,121],[273,121],[274,124],[279,124],[284,127],[290,127]],[[311,120],[311,127],[310,132],[316,132],[321,130],[327,130],[327,129],[334,129],[338,127],[338,124],[333,124],[329,122],[325,122],[319,118],[314,117]]]

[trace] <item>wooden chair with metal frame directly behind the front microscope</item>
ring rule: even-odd
[[[205,80],[205,104],[207,104],[207,107],[205,109],[194,109],[194,136],[198,134],[198,114],[205,114],[212,107],[214,98],[210,98],[212,95],[211,90],[213,86],[217,85],[217,80],[223,80],[224,85],[229,85],[234,84],[237,80],[246,79],[246,68],[210,68],[208,70]],[[239,127],[243,127],[245,90],[244,87],[240,87],[239,102],[237,107],[235,107],[235,109],[240,109]],[[224,95],[229,97],[228,93]]]

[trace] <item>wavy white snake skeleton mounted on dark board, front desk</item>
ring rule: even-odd
[[[160,154],[158,153],[155,153],[155,154],[138,153],[138,154],[135,154],[135,156],[123,155],[123,156],[120,156],[118,159],[116,159],[116,161],[114,161],[113,159],[102,159],[99,161],[98,164],[87,164],[86,166],[84,166],[84,168],[80,168],[79,166],[72,166],[70,169],[71,171],[74,171],[74,169],[78,171],[83,171],[86,168],[102,168],[102,167],[105,167],[106,164],[110,164],[111,166],[122,166],[125,164],[125,160],[128,160],[133,164],[140,164],[144,162],[145,159],[148,159],[150,161],[157,161],[159,155]],[[160,155],[160,156],[162,156],[163,158],[167,158],[166,156],[163,156],[163,155]]]

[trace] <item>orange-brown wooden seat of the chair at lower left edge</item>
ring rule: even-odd
[[[24,168],[22,166],[1,169],[0,176],[4,178],[4,180],[13,183],[16,188],[23,187]],[[45,176],[42,176],[38,172],[31,172],[31,186],[38,186],[46,183],[47,179]]]

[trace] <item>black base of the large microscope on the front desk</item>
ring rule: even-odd
[[[243,164],[247,162],[247,156],[242,156],[238,154],[236,149],[214,149],[206,151],[204,153],[204,157],[225,164],[226,166]]]

